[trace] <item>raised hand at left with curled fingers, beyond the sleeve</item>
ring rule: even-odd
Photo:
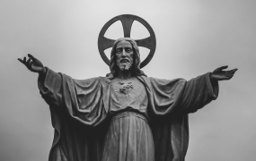
[[[37,58],[35,58],[33,55],[28,54],[29,59],[26,60],[26,57],[22,59],[18,58],[18,60],[24,64],[31,72],[39,72],[40,74],[45,74],[46,73],[46,69],[44,67],[44,65],[40,62],[40,60],[38,60]]]

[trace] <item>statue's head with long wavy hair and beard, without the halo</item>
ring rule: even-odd
[[[132,47],[132,51],[127,51],[128,56],[126,56],[126,58],[124,57],[123,59],[120,58],[120,56],[117,56],[121,51],[119,50],[119,48],[117,48],[118,45],[120,45],[119,44],[120,42],[122,42],[121,46],[123,47],[125,46],[127,46],[128,48]],[[128,42],[129,44],[127,44],[126,42]],[[129,57],[129,56],[132,56],[132,57]],[[133,72],[133,74],[136,76],[137,75],[146,76],[146,74],[140,70],[140,63],[141,63],[140,55],[139,55],[139,50],[138,50],[136,41],[132,38],[119,38],[114,42],[112,46],[112,50],[110,54],[110,73],[107,76],[110,79],[113,79],[114,77],[117,76],[117,72],[119,69],[120,71],[131,70],[131,72]]]

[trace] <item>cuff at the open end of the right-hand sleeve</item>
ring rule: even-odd
[[[207,83],[207,89],[208,89],[208,94],[213,97],[213,99],[215,100],[218,96],[218,81],[214,80],[211,81],[210,80],[210,73],[211,72],[207,72],[205,78],[206,78],[206,83]]]

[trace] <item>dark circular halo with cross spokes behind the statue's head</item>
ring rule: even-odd
[[[140,64],[140,68],[145,67],[146,64],[148,64],[151,61],[151,59],[153,58],[155,47],[156,47],[156,38],[154,35],[154,30],[147,23],[147,21],[138,17],[137,15],[132,15],[132,14],[122,14],[122,15],[116,16],[116,17],[112,18],[110,21],[108,21],[102,27],[102,30],[101,30],[101,32],[99,34],[99,38],[98,38],[98,48],[99,48],[99,52],[100,52],[100,55],[102,56],[103,61],[106,64],[110,65],[110,60],[106,56],[104,50],[112,47],[115,40],[110,39],[110,38],[105,38],[104,34],[105,34],[106,30],[109,29],[110,25],[112,25],[115,21],[121,21],[123,30],[124,30],[124,38],[130,38],[130,30],[131,30],[133,21],[139,21],[149,31],[150,36],[148,38],[135,40],[137,42],[138,47],[146,47],[146,48],[150,49],[150,52],[146,56],[146,59]]]

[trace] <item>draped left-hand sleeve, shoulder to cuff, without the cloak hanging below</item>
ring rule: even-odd
[[[67,114],[85,125],[102,121],[106,109],[102,97],[102,78],[74,80],[63,73],[48,69],[40,94],[49,106],[63,108]]]

